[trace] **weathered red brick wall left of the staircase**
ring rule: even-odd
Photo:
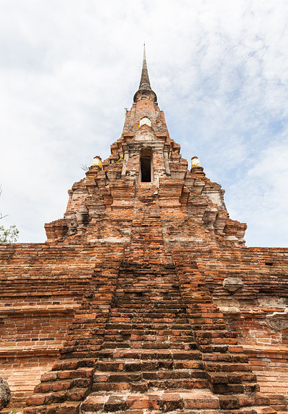
[[[0,377],[8,380],[12,404],[25,402],[59,355],[101,259],[94,249],[0,246]]]

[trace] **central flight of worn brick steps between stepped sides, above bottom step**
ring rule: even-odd
[[[205,387],[174,270],[122,268],[93,391]]]

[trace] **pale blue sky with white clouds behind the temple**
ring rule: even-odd
[[[247,246],[288,246],[287,0],[0,0],[0,211],[43,242],[110,155],[141,74]]]

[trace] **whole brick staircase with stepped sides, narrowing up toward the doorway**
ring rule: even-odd
[[[189,253],[172,264],[148,190],[125,261],[94,279],[25,414],[274,414]]]

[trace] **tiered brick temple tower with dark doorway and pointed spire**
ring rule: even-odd
[[[169,137],[164,113],[150,86],[145,48],[140,85],[132,108],[126,112],[123,133],[112,144],[111,155],[103,164],[99,157],[95,159],[87,178],[69,191],[64,219],[45,224],[48,241],[60,242],[71,235],[91,241],[97,220],[117,212],[125,221],[136,213],[139,195],[144,192],[157,195],[154,201],[159,207],[176,208],[187,219],[196,220],[198,227],[220,235],[220,239],[236,246],[245,243],[247,226],[229,219],[225,191],[205,177],[197,157],[187,170],[180,146]],[[101,228],[98,234],[103,234]]]

